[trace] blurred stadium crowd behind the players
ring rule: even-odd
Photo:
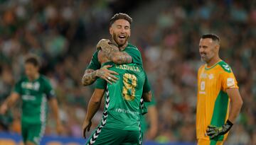
[[[97,41],[110,37],[114,13],[132,16],[129,42],[139,47],[159,112],[156,142],[196,142],[196,74],[203,33],[221,38],[220,56],[233,68],[244,104],[226,144],[256,144],[256,1],[1,0],[0,101],[23,72],[28,53],[41,57],[65,125],[63,137],[81,137],[93,87],[80,80]],[[20,132],[20,104],[1,116],[1,133]],[[94,117],[95,127],[102,112]],[[55,137],[48,116],[46,136]],[[0,134],[0,138],[4,137]],[[0,139],[1,140],[1,139]]]

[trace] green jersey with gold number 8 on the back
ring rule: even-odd
[[[111,64],[119,80],[107,83],[97,79],[96,88],[105,89],[105,112],[102,124],[108,128],[139,130],[141,108],[140,100],[144,91],[146,74],[138,64]]]

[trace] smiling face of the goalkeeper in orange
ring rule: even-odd
[[[201,56],[201,60],[207,64],[214,62],[215,59],[218,59],[218,50],[219,45],[211,38],[201,38],[199,42],[199,54]]]

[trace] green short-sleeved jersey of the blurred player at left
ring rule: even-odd
[[[29,81],[25,76],[14,87],[14,92],[21,96],[21,122],[43,124],[46,122],[48,111],[47,99],[53,98],[55,93],[50,81],[40,75],[38,79]]]

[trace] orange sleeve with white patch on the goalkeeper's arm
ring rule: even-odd
[[[238,88],[238,81],[235,79],[235,75],[232,71],[224,71],[220,76],[223,91],[226,91],[228,88]]]

